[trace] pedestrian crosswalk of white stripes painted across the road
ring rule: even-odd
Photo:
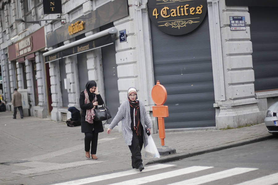
[[[152,166],[146,166],[142,172],[136,169],[115,172],[111,174],[99,175],[94,177],[88,177],[84,179],[77,179],[62,183],[56,183],[52,185],[82,185],[82,184],[101,184],[101,185],[140,185],[140,184],[157,184],[159,185],[198,185],[204,183],[210,183],[216,180],[223,180],[229,177],[236,177],[237,175],[244,175],[247,172],[254,172],[259,170],[258,168],[231,168],[223,171],[218,169],[213,170],[215,167],[211,166],[191,166],[186,168],[180,168],[173,164],[157,164]],[[194,178],[190,178],[190,174],[201,172],[200,175]],[[257,172],[256,172],[257,173]],[[255,175],[256,176],[256,175]],[[187,178],[184,180],[184,178]],[[167,179],[174,179],[175,182],[169,183]],[[182,179],[179,182],[178,179]],[[244,181],[244,180],[241,180]],[[111,183],[112,182],[112,183]],[[237,181],[235,181],[237,182]],[[260,178],[252,180],[246,180],[234,185],[273,185],[278,182],[278,173],[272,175],[266,175]],[[219,183],[218,184],[224,184]]]

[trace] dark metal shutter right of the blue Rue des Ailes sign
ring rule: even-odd
[[[277,7],[249,7],[255,91],[278,88],[277,11]]]

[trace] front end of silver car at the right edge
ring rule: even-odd
[[[269,133],[278,135],[278,102],[271,105],[267,110],[267,115],[264,119],[264,123]]]

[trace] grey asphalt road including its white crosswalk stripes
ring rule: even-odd
[[[119,170],[54,184],[278,184],[277,141],[278,138],[273,138],[174,162],[150,165],[142,172],[135,169]]]

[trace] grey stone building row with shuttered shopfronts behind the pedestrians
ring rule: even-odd
[[[154,133],[151,90],[157,80],[167,90],[166,129],[258,124],[277,101],[276,2],[70,0],[62,1],[59,17],[65,20],[42,21],[27,31],[27,23],[7,18],[20,1],[1,2],[3,97],[10,101],[13,88],[27,89],[30,115],[65,120],[68,107],[80,109],[88,80],[96,81],[112,117],[127,89],[137,88]],[[41,12],[41,2],[30,2],[33,9],[21,8],[22,16],[14,18],[31,20],[28,14]],[[38,15],[32,20],[57,18]],[[40,30],[44,47],[17,56],[11,48]]]

